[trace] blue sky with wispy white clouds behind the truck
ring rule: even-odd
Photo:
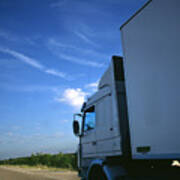
[[[76,150],[73,113],[146,1],[0,1],[0,159]]]

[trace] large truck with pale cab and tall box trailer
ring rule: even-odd
[[[79,175],[180,179],[180,1],[148,1],[120,31],[123,57],[74,114]]]

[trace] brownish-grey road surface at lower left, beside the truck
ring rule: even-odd
[[[0,180],[79,180],[75,172],[28,171],[0,167]]]

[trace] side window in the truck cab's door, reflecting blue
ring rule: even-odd
[[[95,114],[95,108],[94,106],[92,106],[85,112],[84,132],[94,129],[95,124],[96,124],[96,114]]]

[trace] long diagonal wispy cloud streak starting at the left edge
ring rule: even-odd
[[[46,68],[44,65],[42,65],[40,62],[38,62],[36,59],[33,59],[27,55],[24,55],[23,53],[19,53],[17,51],[8,49],[8,48],[2,48],[0,47],[0,52],[9,54],[13,57],[15,57],[16,59],[21,60],[22,62],[38,69],[41,70],[42,72],[46,73],[46,74],[50,74],[53,76],[57,76],[57,77],[61,77],[64,79],[69,79],[70,76],[66,75],[64,72],[60,72],[58,70],[55,69],[48,69]]]

